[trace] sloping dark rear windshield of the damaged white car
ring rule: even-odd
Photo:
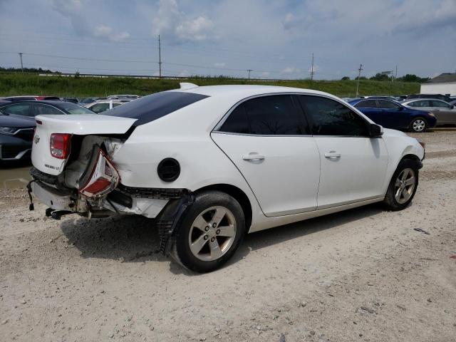
[[[209,96],[181,91],[164,91],[119,105],[101,115],[138,119],[134,125],[144,125],[207,97]]]

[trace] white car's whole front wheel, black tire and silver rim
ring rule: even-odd
[[[417,162],[410,159],[401,160],[383,199],[385,209],[393,211],[405,209],[415,197],[417,188]]]

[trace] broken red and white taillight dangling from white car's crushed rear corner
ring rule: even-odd
[[[103,150],[98,149],[96,158],[90,177],[79,189],[87,197],[107,195],[118,186],[120,180],[118,171]]]

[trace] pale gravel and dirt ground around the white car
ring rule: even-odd
[[[456,341],[456,130],[418,137],[407,209],[249,234],[210,274],[157,253],[147,219],[54,221],[0,190],[0,341]]]

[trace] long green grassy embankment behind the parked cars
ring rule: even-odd
[[[188,78],[186,80],[138,79],[129,77],[63,77],[37,76],[21,73],[0,74],[0,96],[55,95],[84,98],[112,94],[147,95],[162,90],[179,88],[179,82],[196,83],[198,86],[217,84],[261,84],[288,86],[325,91],[341,97],[356,95],[356,81],[248,81],[234,78]],[[405,95],[419,93],[420,83],[361,80],[360,95]]]

